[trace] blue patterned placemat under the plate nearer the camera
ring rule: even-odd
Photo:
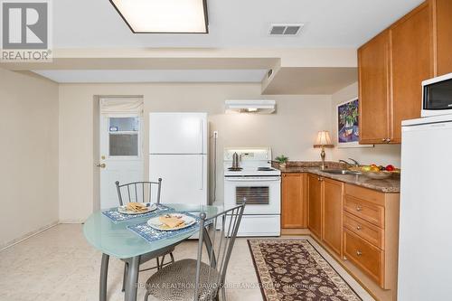
[[[178,212],[181,214],[185,214],[188,216],[193,217],[196,221],[191,225],[190,227],[180,229],[180,230],[170,230],[170,231],[164,231],[164,230],[156,230],[149,226],[147,222],[139,223],[137,225],[127,226],[128,230],[132,230],[139,236],[141,236],[143,239],[145,239],[147,242],[153,242],[156,240],[163,240],[172,238],[177,235],[184,234],[186,232],[193,231],[195,228],[199,228],[199,216],[187,213],[187,212]]]

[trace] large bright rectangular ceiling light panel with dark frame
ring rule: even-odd
[[[208,33],[207,0],[110,0],[134,33]]]

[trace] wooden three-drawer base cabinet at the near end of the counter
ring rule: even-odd
[[[399,193],[344,185],[344,259],[384,289],[397,287]]]

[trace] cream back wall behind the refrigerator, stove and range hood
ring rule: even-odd
[[[260,84],[60,85],[61,221],[83,221],[99,202],[93,187],[94,165],[99,162],[93,155],[93,99],[96,95],[143,95],[146,117],[151,111],[208,112],[211,133],[213,130],[220,133],[218,200],[222,200],[224,146],[271,146],[274,155],[285,154],[292,160],[316,160],[318,150],[312,147],[315,134],[331,127],[330,96],[272,97],[278,101],[278,113],[273,115],[224,114],[225,99],[261,98]],[[147,122],[145,120],[145,128]],[[145,137],[147,139],[146,134]]]

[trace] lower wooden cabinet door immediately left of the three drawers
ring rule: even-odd
[[[322,240],[339,255],[343,247],[343,191],[344,183],[324,178]]]

